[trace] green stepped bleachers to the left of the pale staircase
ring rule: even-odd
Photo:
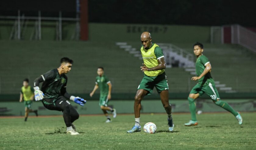
[[[70,93],[88,93],[94,87],[97,67],[103,66],[113,84],[113,92],[133,92],[142,73],[140,60],[112,43],[0,41],[1,93],[18,93],[24,78],[33,80],[59,67],[62,57],[74,60],[68,76]],[[134,78],[137,77],[138,78]]]

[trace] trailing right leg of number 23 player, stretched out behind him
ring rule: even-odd
[[[227,102],[220,100],[219,92],[217,91],[216,87],[212,85],[212,83],[209,83],[209,85],[205,87],[205,93],[211,97],[212,101],[216,105],[232,113],[236,117],[240,125],[243,123],[243,119],[240,114],[236,112]]]

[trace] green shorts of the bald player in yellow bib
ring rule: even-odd
[[[151,94],[153,92],[154,87],[156,88],[157,92],[160,93],[163,90],[168,90],[169,86],[166,80],[165,72],[161,75],[150,77],[147,75],[144,75],[144,78],[141,80],[140,85],[138,86],[138,89],[144,89],[148,91],[148,94]]]

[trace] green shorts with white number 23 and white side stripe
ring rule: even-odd
[[[208,85],[200,85],[196,84],[193,89],[191,89],[190,94],[197,94],[199,93],[199,96],[202,96],[204,93],[206,93],[208,96],[211,97],[213,101],[217,101],[219,98],[219,93],[215,87],[215,85],[212,85],[211,82],[209,82]]]

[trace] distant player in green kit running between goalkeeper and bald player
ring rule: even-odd
[[[92,97],[94,92],[100,88],[100,102],[99,106],[101,107],[101,110],[107,117],[106,123],[111,122],[110,117],[108,116],[107,111],[111,111],[113,113],[113,117],[116,118],[116,109],[108,107],[108,101],[111,99],[111,88],[112,84],[109,81],[109,79],[104,75],[104,68],[98,67],[97,69],[98,76],[96,77],[95,86],[92,92],[90,93],[90,96]]]

